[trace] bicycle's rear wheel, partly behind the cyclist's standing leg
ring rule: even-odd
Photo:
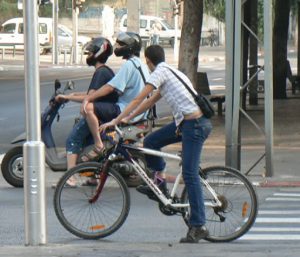
[[[209,231],[206,240],[230,242],[247,233],[254,224],[258,211],[257,195],[247,177],[238,170],[225,166],[205,168],[200,170],[199,175],[209,182],[222,202],[222,206],[218,208],[205,207],[205,226]],[[204,201],[215,202],[203,184],[202,190]],[[186,188],[181,200],[188,201]],[[187,208],[183,214],[187,225],[189,213],[190,209]]]

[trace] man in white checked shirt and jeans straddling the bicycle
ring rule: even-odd
[[[149,134],[144,140],[144,147],[160,150],[166,145],[182,141],[182,175],[188,191],[191,216],[187,235],[181,238],[180,242],[198,243],[200,239],[209,234],[205,227],[205,207],[199,179],[199,163],[202,146],[211,132],[212,125],[210,120],[203,116],[193,96],[172,71],[191,90],[194,90],[187,76],[165,63],[163,48],[159,45],[151,45],[145,50],[145,57],[152,72],[145,88],[117,118],[103,124],[100,130],[117,125],[122,120],[127,122],[151,108],[160,98],[164,98],[168,102],[174,121]],[[153,95],[147,98],[153,91]],[[155,182],[158,187],[163,193],[168,194],[164,159],[146,156],[146,160],[148,167],[156,171]],[[139,186],[137,190],[149,198],[155,199],[154,193],[148,186]]]

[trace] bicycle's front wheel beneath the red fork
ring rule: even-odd
[[[70,178],[76,180],[76,187],[66,185]],[[61,177],[55,189],[54,209],[69,232],[84,239],[99,239],[124,223],[130,195],[118,172],[110,167],[105,176],[101,163],[86,162]]]

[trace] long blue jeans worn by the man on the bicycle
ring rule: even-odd
[[[176,125],[172,122],[148,135],[144,147],[161,150],[162,147],[182,141],[182,175],[186,185],[191,206],[189,225],[205,224],[205,207],[203,192],[199,179],[199,164],[202,146],[212,130],[209,119],[201,117],[184,120],[180,124],[181,135],[176,135]],[[146,156],[147,165],[155,171],[163,171],[166,163],[163,158]]]

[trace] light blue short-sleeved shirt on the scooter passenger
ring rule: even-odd
[[[145,80],[149,78],[149,71],[147,66],[138,57],[132,57],[131,60],[135,63],[137,67],[141,67],[144,74]],[[119,93],[119,100],[117,105],[120,107],[121,111],[144,89],[145,83],[143,81],[140,71],[134,66],[132,61],[127,60],[113,77],[111,81],[108,82],[109,85],[114,87]],[[140,115],[134,120],[139,120]]]

